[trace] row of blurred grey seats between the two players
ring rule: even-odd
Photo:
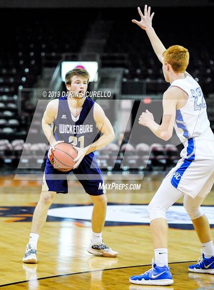
[[[103,170],[167,170],[180,159],[179,151],[173,144],[163,146],[158,143],[136,146],[123,144],[120,148],[111,143],[97,151],[97,159]]]

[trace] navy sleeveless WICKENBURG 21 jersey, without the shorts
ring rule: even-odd
[[[86,98],[81,113],[74,117],[69,109],[67,97],[59,98],[53,132],[57,141],[62,140],[79,148],[92,144],[99,133],[94,121],[94,101]]]

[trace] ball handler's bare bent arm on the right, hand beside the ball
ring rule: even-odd
[[[106,144],[109,144],[115,138],[114,129],[110,120],[105,116],[104,111],[97,103],[94,103],[94,120],[98,130],[102,133],[102,136],[97,141],[83,149],[75,147],[78,151],[78,155],[76,159],[74,159],[74,162],[76,162],[73,167],[74,169],[78,167],[79,163],[81,163],[83,157],[86,154],[102,148]]]

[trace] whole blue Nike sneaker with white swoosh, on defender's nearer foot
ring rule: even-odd
[[[144,274],[131,276],[129,282],[138,285],[171,285],[174,283],[172,274],[167,266],[158,267],[152,260],[152,268]]]

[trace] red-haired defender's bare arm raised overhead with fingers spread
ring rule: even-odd
[[[146,31],[158,60],[163,63],[163,52],[166,50],[166,48],[152,27],[152,18],[154,16],[154,12],[151,14],[151,7],[147,9],[147,5],[144,7],[144,15],[141,12],[140,7],[138,7],[138,12],[140,14],[141,20],[138,21],[136,19],[132,19],[131,21],[138,24],[140,28]]]

